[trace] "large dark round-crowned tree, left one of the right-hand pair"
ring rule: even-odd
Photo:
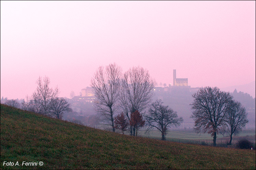
[[[192,104],[193,114],[191,118],[195,120],[195,130],[200,132],[208,131],[213,136],[213,145],[216,146],[216,136],[218,129],[225,122],[232,96],[229,92],[220,91],[218,87],[200,88],[194,95]]]

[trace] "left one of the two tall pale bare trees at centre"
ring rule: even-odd
[[[115,63],[104,67],[99,67],[91,79],[91,87],[94,89],[94,106],[101,118],[112,126],[115,132],[114,118],[115,104],[118,100],[120,77],[122,70]]]

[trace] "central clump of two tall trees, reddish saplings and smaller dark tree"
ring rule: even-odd
[[[115,63],[105,68],[101,66],[91,79],[96,111],[103,121],[112,126],[113,132],[117,128],[124,133],[127,126],[130,126],[130,135],[137,136],[138,129],[145,124],[148,130],[159,129],[164,140],[167,128],[170,125],[179,125],[183,119],[177,118],[176,112],[168,109],[168,106],[163,106],[161,101],[157,101],[152,104],[155,109],[149,110],[149,114],[144,116],[146,120],[143,120],[140,112],[145,111],[151,103],[155,85],[149,72],[142,67],[130,68],[122,74],[122,69]],[[161,110],[157,110],[157,107]],[[117,112],[122,114],[115,118],[114,114]],[[157,118],[159,120],[156,120]]]

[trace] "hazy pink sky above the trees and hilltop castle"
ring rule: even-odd
[[[255,81],[255,1],[2,1],[1,97],[25,98],[39,76],[60,97],[99,66],[219,88]]]

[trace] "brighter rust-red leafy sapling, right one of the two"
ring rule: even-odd
[[[133,136],[135,136],[135,130],[136,130],[136,136],[138,129],[143,127],[145,124],[145,120],[143,120],[142,115],[140,114],[139,111],[135,111],[131,113],[131,120],[130,120],[130,125],[132,126],[133,129]]]

